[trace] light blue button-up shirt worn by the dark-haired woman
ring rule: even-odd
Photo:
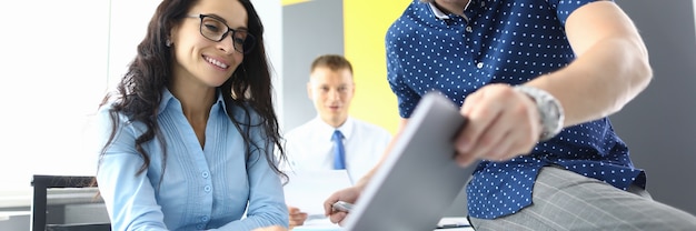
[[[95,121],[95,135],[101,147],[112,128],[109,109],[100,109]],[[242,124],[242,129],[250,129],[252,141],[261,148],[252,148],[246,160],[242,137],[225,109],[219,96],[210,109],[206,144],[201,148],[182,113],[181,103],[163,90],[157,122],[166,147],[157,139],[143,145],[151,162],[141,174],[136,174],[143,160],[135,142],[145,132],[145,125],[128,122],[128,117],[119,114],[121,125],[97,173],[113,230],[288,227],[280,178],[271,170],[265,154],[272,153],[272,147],[265,144],[261,127]],[[241,108],[235,107],[231,111],[238,121],[248,121]],[[256,113],[251,117],[258,120]]]

